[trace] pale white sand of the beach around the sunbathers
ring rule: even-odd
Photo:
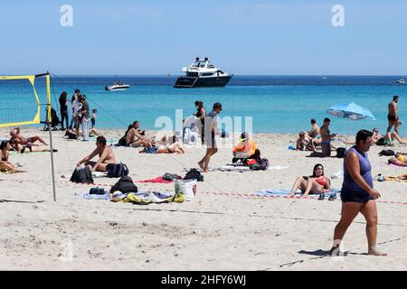
[[[0,129],[8,138],[9,129]],[[116,139],[123,131],[103,131]],[[23,135],[49,133],[22,128]],[[358,216],[345,235],[344,257],[324,254],[332,246],[340,219],[341,201],[260,197],[254,191],[290,188],[299,175],[309,175],[316,163],[326,175],[342,169],[343,159],[308,158],[309,152],[290,151],[297,135],[257,134],[265,172],[209,172],[198,182],[194,200],[183,203],[135,205],[76,196],[92,186],[69,182],[75,164],[90,154],[95,142],[67,141],[53,132],[57,201],[52,200],[50,153],[10,154],[27,172],[0,173],[0,270],[406,270],[407,182],[376,182],[382,194],[378,246],[388,256],[367,256],[364,218]],[[337,146],[343,144],[334,143]],[[165,172],[184,176],[197,167],[204,148],[186,145],[186,154],[137,154],[137,149],[114,148],[127,163],[134,181]],[[374,177],[399,175],[407,168],[387,165],[369,154]],[[394,151],[407,146],[395,144]],[[334,152],[334,155],[336,153]],[[231,163],[231,148],[221,148],[210,167]],[[62,175],[64,178],[62,178]],[[106,188],[118,179],[95,179]],[[342,179],[331,180],[340,188]],[[174,184],[139,183],[139,191],[173,191]]]

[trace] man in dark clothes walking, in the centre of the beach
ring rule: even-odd
[[[217,115],[222,111],[222,104],[215,102],[213,104],[213,111],[211,111],[205,117],[204,121],[204,140],[206,144],[206,154],[201,161],[198,162],[198,165],[203,169],[203,172],[209,172],[209,161],[213,154],[218,152],[216,145],[215,135],[222,135],[222,131],[218,129],[217,125]]]

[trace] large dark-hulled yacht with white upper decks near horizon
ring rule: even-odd
[[[224,87],[233,76],[214,67],[207,57],[204,60],[197,57],[194,63],[184,67],[181,72],[185,72],[185,76],[176,79],[175,88]]]

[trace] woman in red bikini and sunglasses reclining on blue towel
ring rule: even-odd
[[[324,166],[317,163],[311,176],[298,177],[292,186],[289,197],[294,197],[298,189],[301,190],[303,197],[307,197],[309,193],[320,194],[331,191],[331,182],[324,175]]]

